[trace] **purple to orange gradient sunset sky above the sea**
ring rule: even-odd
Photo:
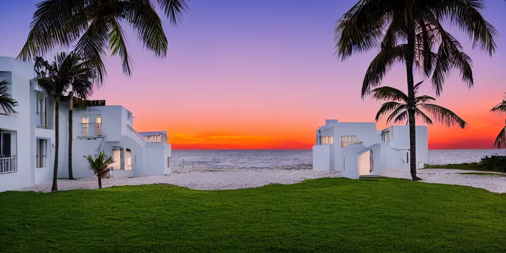
[[[0,56],[16,57],[38,0],[0,0]],[[371,122],[379,104],[360,98],[365,70],[377,51],[341,62],[333,55],[332,27],[356,0],[193,0],[177,26],[164,28],[166,58],[155,58],[128,32],[133,76],[108,58],[108,76],[93,99],[134,112],[138,131],[167,131],[173,149],[310,149],[324,119]],[[485,18],[506,34],[506,3],[486,1]],[[471,126],[429,126],[429,148],[491,148],[504,116],[489,110],[506,90],[506,40],[489,57],[449,29],[474,60],[475,87],[447,79],[439,105]],[[415,78],[421,80],[420,77]],[[383,84],[406,91],[405,67]],[[420,93],[435,95],[430,85]],[[106,119],[104,119],[106,120]],[[385,122],[378,123],[383,129]]]

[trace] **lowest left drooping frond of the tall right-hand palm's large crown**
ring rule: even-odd
[[[404,61],[405,44],[393,48],[382,48],[369,64],[362,82],[362,98],[370,93],[370,89],[381,84],[385,74],[392,69],[395,62]]]

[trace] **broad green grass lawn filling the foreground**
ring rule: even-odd
[[[504,252],[506,194],[403,179],[0,193],[2,252]]]

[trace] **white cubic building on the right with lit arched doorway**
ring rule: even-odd
[[[376,130],[376,123],[325,120],[316,130],[313,170],[339,171],[343,177],[379,175],[384,168],[409,172],[409,126]],[[416,126],[416,164],[428,160],[427,126]]]

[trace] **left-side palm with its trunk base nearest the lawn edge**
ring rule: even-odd
[[[94,78],[93,74],[86,70],[88,69],[84,66],[86,62],[82,62],[80,59],[81,58],[75,53],[70,53],[68,55],[65,53],[57,54],[55,60],[51,64],[41,57],[35,59],[34,70],[37,84],[48,96],[55,99],[55,160],[51,191],[58,190],[58,150],[60,146],[59,106],[61,98],[71,90],[73,83],[76,84],[76,86],[79,85],[79,83],[81,83],[81,85],[82,83],[88,85],[89,79]]]

